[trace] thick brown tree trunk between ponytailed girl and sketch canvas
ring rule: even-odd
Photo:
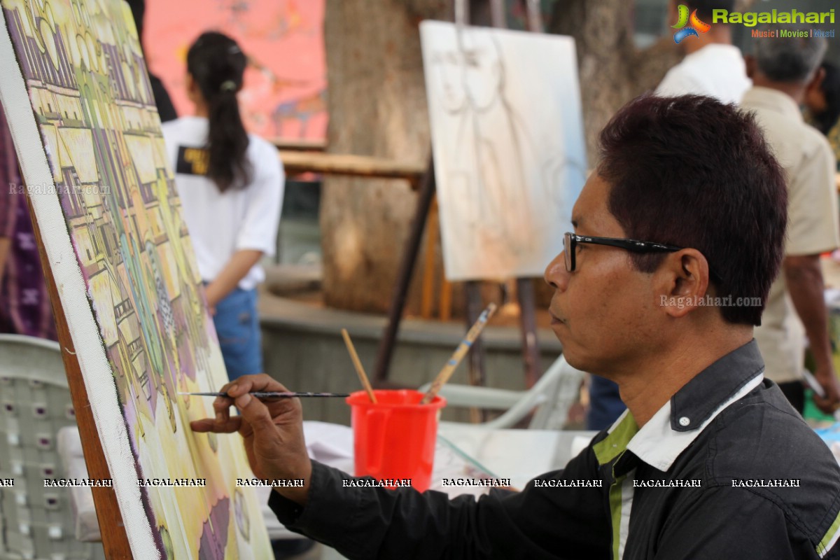
[[[417,24],[427,18],[448,19],[451,13],[447,0],[328,0],[324,39],[330,153],[428,159]],[[386,311],[416,204],[417,194],[406,181],[325,179],[320,222],[328,306]],[[415,281],[408,309],[418,307]]]

